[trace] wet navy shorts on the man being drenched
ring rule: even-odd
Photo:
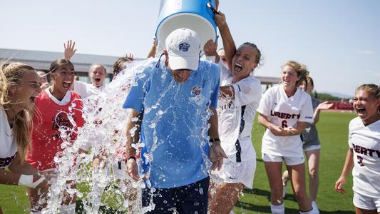
[[[198,213],[207,214],[208,185],[210,177],[178,188],[156,188],[150,193],[149,188],[143,189],[143,207],[148,207],[153,199],[155,209],[147,213]],[[153,197],[153,198],[152,198]]]

